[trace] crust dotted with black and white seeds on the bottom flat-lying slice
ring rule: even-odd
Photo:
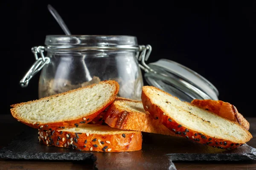
[[[48,146],[66,147],[79,151],[131,152],[141,150],[142,147],[141,132],[120,134],[52,132],[53,130],[40,129],[38,132],[39,141]]]

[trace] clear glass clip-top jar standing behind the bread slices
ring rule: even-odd
[[[116,80],[118,96],[140,100],[143,77],[137,59],[147,50],[150,45],[138,45],[133,36],[47,35],[45,46],[32,48],[36,62],[20,84],[26,87],[41,70],[39,98]]]

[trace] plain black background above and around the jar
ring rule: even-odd
[[[51,4],[72,34],[136,36],[153,48],[148,62],[171,59],[201,74],[244,116],[254,116],[256,1],[1,1],[1,113],[38,98],[39,74],[20,79],[35,61],[31,48],[64,34]],[[7,72],[7,74],[6,74]],[[4,87],[3,87],[4,85]],[[3,97],[3,96],[2,96]]]

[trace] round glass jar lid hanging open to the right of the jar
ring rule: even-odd
[[[146,66],[149,69],[145,72],[144,77],[149,85],[160,88],[182,101],[191,102],[193,99],[218,100],[217,88],[184,65],[172,60],[160,59]]]

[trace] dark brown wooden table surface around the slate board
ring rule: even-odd
[[[250,133],[253,135],[247,144],[256,147],[256,118],[247,118],[250,122]],[[26,125],[17,122],[10,114],[0,115],[1,140],[0,148],[6,146],[14,136],[19,134]],[[10,133],[11,132],[11,133]],[[3,137],[4,136],[4,137]],[[223,169],[223,170],[256,170],[256,161],[174,161],[177,170]],[[6,160],[0,159],[0,170],[52,170],[52,169],[93,169],[93,161],[38,161],[38,160]],[[152,168],[153,169],[153,168]]]

